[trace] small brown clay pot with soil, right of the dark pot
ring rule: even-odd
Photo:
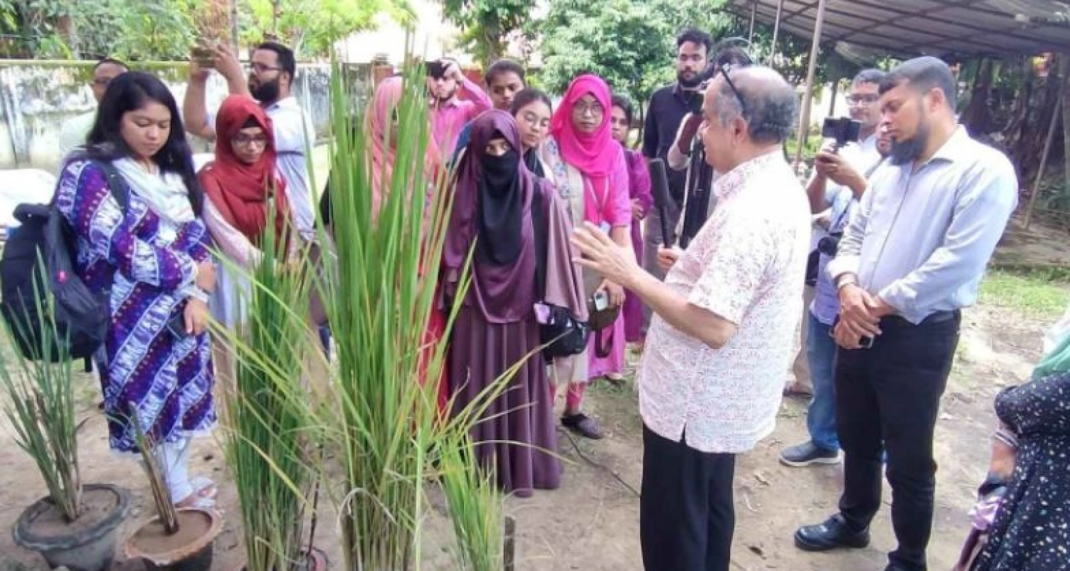
[[[126,540],[123,553],[141,559],[149,571],[209,571],[213,542],[223,530],[223,518],[215,510],[178,510],[179,531],[168,535],[159,518],[144,523]]]

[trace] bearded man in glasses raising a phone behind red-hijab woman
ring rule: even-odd
[[[272,120],[278,170],[286,181],[287,199],[293,209],[293,225],[307,241],[316,240],[316,212],[309,187],[306,153],[316,143],[312,119],[293,95],[297,64],[293,51],[274,42],[264,42],[253,51],[249,73],[226,46],[215,50],[212,65],[227,80],[231,94],[249,95],[260,102]],[[189,87],[183,102],[186,130],[203,139],[215,140],[215,117],[204,103],[209,70],[197,59],[189,62]]]

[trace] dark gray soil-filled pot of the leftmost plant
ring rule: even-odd
[[[47,497],[18,518],[15,543],[41,553],[49,567],[101,571],[116,557],[119,526],[131,511],[129,492],[118,485],[91,483],[81,489],[82,515],[66,522]]]

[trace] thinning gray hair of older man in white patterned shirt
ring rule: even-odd
[[[721,77],[714,110],[728,125],[737,117],[747,122],[750,139],[759,144],[776,144],[788,140],[795,129],[798,113],[798,97],[795,90],[776,71],[762,65],[753,65],[731,72],[732,82],[739,91],[739,98],[732,92],[729,82]]]

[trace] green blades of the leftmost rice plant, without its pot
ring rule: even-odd
[[[44,271],[44,264],[41,272]],[[44,280],[34,280],[43,283]],[[81,475],[78,468],[80,423],[75,417],[74,364],[65,354],[66,344],[58,337],[51,294],[37,296],[37,313],[45,317],[43,331],[31,337],[19,325],[3,325],[6,346],[0,350],[0,386],[6,393],[4,413],[15,430],[15,442],[33,459],[48,488],[48,497],[68,522],[81,513]],[[22,337],[16,337],[22,336]],[[39,355],[57,355],[58,362],[47,359],[14,358],[10,349],[18,339],[40,338]]]

